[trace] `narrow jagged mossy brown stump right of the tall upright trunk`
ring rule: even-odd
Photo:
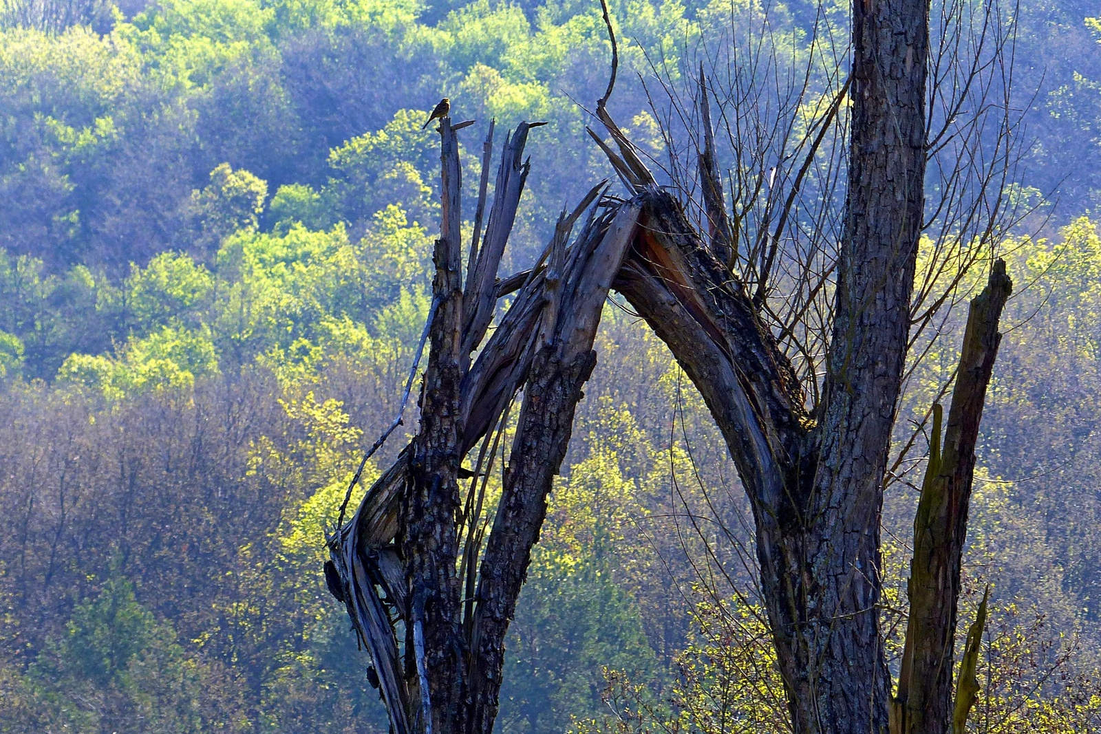
[[[944,447],[940,406],[934,406],[929,464],[914,517],[909,621],[892,734],[945,734],[951,726],[952,648],[974,447],[1002,339],[998,324],[1012,289],[1005,263],[999,260],[985,289],[971,302]]]

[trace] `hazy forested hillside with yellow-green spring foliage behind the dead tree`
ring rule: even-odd
[[[843,1],[609,4],[609,109],[655,162],[662,83],[690,85],[731,28],[796,55],[822,18],[847,34]],[[1101,19],[1091,0],[1006,13],[1031,213],[998,245],[1017,289],[966,558],[964,618],[993,588],[974,726],[1099,731]],[[385,731],[320,569],[427,315],[439,158],[421,125],[444,95],[478,131],[547,121],[504,263],[530,265],[610,174],[585,132],[599,4],[0,0],[0,732]],[[908,380],[900,440],[962,310]],[[724,443],[614,303],[597,351],[499,731],[783,731]],[[919,467],[887,489],[889,623]]]

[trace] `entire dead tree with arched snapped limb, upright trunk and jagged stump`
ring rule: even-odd
[[[597,199],[593,189],[559,219],[535,269],[500,280],[498,267],[527,175],[522,160],[531,125],[521,124],[505,141],[481,240],[492,147],[487,141],[464,280],[456,131],[465,124],[442,121],[443,223],[419,429],[370,487],[351,522],[330,539],[335,595],[347,604],[371,654],[397,734],[492,730],[504,635],[595,362],[592,340],[612,286],[668,344],[738,467],[752,506],[761,595],[794,731],[885,732],[900,705],[920,705],[925,731],[947,725],[945,712],[951,706],[942,702],[950,683],[946,688],[944,670],[947,666],[950,676],[966,532],[959,503],[966,505],[970,489],[994,354],[989,347],[996,342],[990,335],[996,333],[999,304],[1007,293],[999,281],[981,309],[980,330],[986,335],[980,339],[985,346],[981,358],[964,350],[964,372],[971,359],[979,359],[985,372],[961,380],[957,392],[966,398],[959,412],[953,399],[951,413],[960,419],[950,417],[949,436],[956,435],[952,426],[962,428],[950,448],[959,458],[945,480],[950,491],[944,496],[956,503],[948,519],[935,495],[923,499],[934,503],[927,507],[929,527],[939,529],[929,530],[931,565],[922,578],[915,571],[912,593],[933,579],[928,599],[951,603],[930,610],[926,627],[915,627],[909,692],[900,704],[892,697],[880,628],[880,513],[914,338],[911,326],[935,310],[915,316],[915,303],[931,297],[931,292],[915,294],[930,157],[928,3],[857,3],[853,15],[851,77],[818,121],[793,194],[775,208],[770,204],[766,226],[744,249],[739,244],[744,209],[724,209],[709,133],[698,157],[707,226],[696,227],[684,201],[656,185],[609,116],[609,84],[597,116],[611,141],[593,138],[631,198],[598,204],[570,241],[574,226]],[[612,83],[614,68],[613,44]],[[706,94],[702,75],[700,87]],[[799,182],[847,97],[852,107],[843,230],[833,260],[799,286],[809,292],[803,300],[829,303],[818,337],[825,373],[819,380],[815,350],[795,350],[800,368],[785,348],[799,339],[783,322],[777,328],[768,295],[775,278],[770,277],[778,272],[782,232]],[[983,218],[978,209],[964,213],[974,221]],[[745,270],[739,267],[746,263]],[[504,293],[514,293],[512,305],[487,339]],[[799,309],[805,310],[792,309],[796,320],[803,318]],[[487,528],[486,481],[479,478],[491,468],[509,406],[521,391],[502,494]],[[459,476],[468,456],[477,458],[464,492]],[[941,667],[930,668],[930,660]]]

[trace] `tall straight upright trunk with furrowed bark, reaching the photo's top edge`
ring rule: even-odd
[[[928,2],[859,0],[852,13],[847,232],[814,475],[784,530],[787,573],[766,592],[791,635],[777,642],[797,732],[883,732],[891,686],[880,513],[925,204]]]

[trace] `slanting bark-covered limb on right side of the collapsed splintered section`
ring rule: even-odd
[[[593,222],[568,259],[562,252],[547,266],[553,274],[548,282],[560,278],[557,295],[547,299],[557,313],[544,316],[546,328],[541,330],[543,339],[524,388],[504,487],[479,573],[470,639],[470,732],[490,734],[493,728],[504,635],[546,517],[547,495],[566,456],[581,386],[596,364],[592,341],[604,298],[634,239],[637,216],[637,207],[629,205],[610,224]]]

